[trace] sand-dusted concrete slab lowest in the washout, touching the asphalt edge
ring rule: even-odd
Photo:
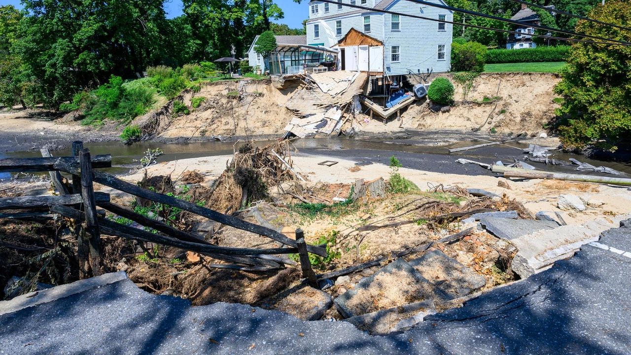
[[[435,313],[436,308],[433,301],[422,301],[354,316],[344,321],[372,335],[386,335],[392,332],[408,330],[423,322],[425,316]]]

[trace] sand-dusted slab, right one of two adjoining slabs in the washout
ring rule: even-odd
[[[471,294],[487,284],[487,279],[482,275],[476,274],[440,250],[428,251],[420,258],[412,260],[410,265],[452,299]]]

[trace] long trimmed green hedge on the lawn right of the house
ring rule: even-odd
[[[569,45],[541,46],[524,49],[491,49],[487,52],[487,64],[564,62],[570,51]]]

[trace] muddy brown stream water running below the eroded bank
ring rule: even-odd
[[[270,143],[271,140],[256,141],[256,145],[263,147]],[[526,144],[510,142],[512,147],[493,145],[491,147],[477,148],[466,152],[458,152],[449,154],[450,148],[466,147],[485,143],[480,140],[464,140],[448,145],[428,145],[428,141],[409,140],[359,140],[346,138],[305,138],[293,140],[292,145],[301,153],[314,153],[318,155],[330,155],[331,157],[365,160],[370,162],[383,162],[388,164],[391,155],[400,157],[406,167],[415,169],[423,169],[437,172],[452,172],[457,174],[487,174],[484,169],[478,169],[475,165],[464,167],[456,164],[454,160],[459,157],[476,160],[493,164],[497,160],[511,162],[514,159],[523,159],[524,154],[521,149],[528,147]],[[160,148],[164,154],[158,157],[158,162],[187,159],[195,157],[207,157],[213,155],[232,154],[233,150],[242,142],[222,142],[222,141],[203,141],[196,143],[157,143],[157,142],[141,142],[134,145],[122,145],[117,141],[86,143],[85,147],[90,148],[92,154],[111,154],[113,167],[109,169],[115,174],[122,174],[137,165],[138,160],[143,157],[144,152],[148,149]],[[68,148],[56,150],[53,155],[64,156],[70,155]],[[28,152],[8,152],[0,153],[0,159],[4,157],[38,157],[38,151]],[[631,174],[631,164],[623,162],[611,162],[587,159],[584,156],[572,155],[565,153],[555,153],[555,159],[568,160],[574,157],[581,162],[587,162],[592,165],[604,165],[616,169],[618,171]],[[575,172],[569,167],[553,167],[544,164],[531,163],[538,169],[560,172]],[[4,175],[3,175],[4,174]],[[0,179],[8,179],[10,176],[6,173],[0,173]]]

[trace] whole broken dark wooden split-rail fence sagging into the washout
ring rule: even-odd
[[[100,275],[102,272],[100,235],[103,232],[110,236],[119,236],[140,242],[174,246],[182,250],[194,251],[216,260],[228,262],[228,264],[211,265],[218,268],[251,271],[282,268],[284,265],[295,265],[295,262],[288,258],[281,258],[278,255],[297,253],[300,256],[304,278],[309,282],[310,286],[317,287],[317,277],[310,265],[309,253],[326,256],[327,252],[322,246],[305,243],[302,230],[297,229],[296,239],[290,239],[268,227],[259,226],[232,215],[221,214],[179,198],[146,190],[135,184],[122,181],[107,172],[96,170],[98,168],[111,167],[111,155],[91,156],[90,150],[83,149],[81,141],[73,142],[72,147],[72,157],[52,157],[48,150],[42,149],[41,158],[0,159],[0,172],[48,171],[52,183],[59,192],[59,196],[0,198],[0,210],[21,210],[21,212],[3,213],[0,214],[0,217],[33,219],[57,214],[71,219],[74,226],[76,226],[74,234],[78,243],[81,278],[88,277],[90,271],[91,275]],[[71,183],[64,184],[61,172],[71,174]],[[271,238],[283,245],[280,248],[266,249],[217,246],[159,220],[150,219],[112,203],[108,193],[94,191],[94,183],[109,186],[115,190],[156,203],[181,208],[221,224]],[[97,207],[103,210],[97,210]],[[27,212],[24,212],[24,210],[27,210]],[[125,226],[106,219],[104,210],[133,220],[142,226],[155,229],[159,233],[156,234],[143,229]]]

